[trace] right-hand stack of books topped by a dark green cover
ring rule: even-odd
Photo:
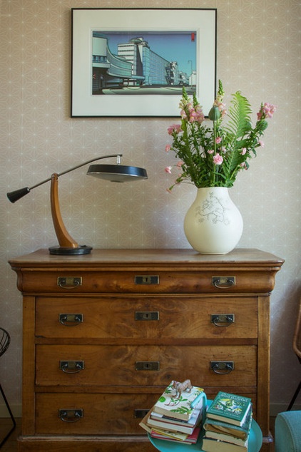
[[[220,391],[206,414],[202,450],[248,452],[251,423],[251,399]]]

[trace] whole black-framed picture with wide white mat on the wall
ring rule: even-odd
[[[216,9],[72,9],[71,117],[178,116],[215,98]]]

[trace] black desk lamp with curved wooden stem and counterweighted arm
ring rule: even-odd
[[[50,247],[49,252],[51,255],[88,255],[92,247],[86,245],[78,245],[78,243],[69,235],[63,224],[63,219],[61,217],[61,211],[58,202],[58,178],[66,173],[71,173],[71,171],[81,168],[81,166],[88,165],[88,163],[95,162],[96,160],[101,160],[103,158],[117,158],[116,165],[90,165],[88,168],[88,175],[92,175],[96,178],[111,180],[112,182],[125,182],[126,180],[141,180],[147,179],[148,175],[146,170],[143,168],[137,168],[136,166],[125,166],[121,165],[122,154],[113,155],[103,155],[102,157],[93,158],[80,165],[73,166],[69,170],[63,171],[63,173],[53,173],[51,178],[42,180],[42,182],[33,185],[31,188],[24,187],[19,190],[7,193],[7,197],[11,202],[16,202],[21,197],[27,195],[31,190],[39,185],[43,185],[51,180],[50,188],[50,202],[51,202],[51,215],[53,221],[53,227],[56,232],[56,237],[58,239],[59,246]]]

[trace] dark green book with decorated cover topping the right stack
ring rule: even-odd
[[[242,426],[251,406],[249,397],[220,391],[207,410],[207,418]]]

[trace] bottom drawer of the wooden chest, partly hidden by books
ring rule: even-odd
[[[158,394],[36,394],[36,433],[143,435],[139,411],[155,404]]]

